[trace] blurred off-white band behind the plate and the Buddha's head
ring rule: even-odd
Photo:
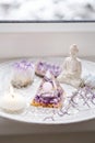
[[[0,57],[67,55],[71,44],[80,55],[95,55],[95,32],[0,33]]]

